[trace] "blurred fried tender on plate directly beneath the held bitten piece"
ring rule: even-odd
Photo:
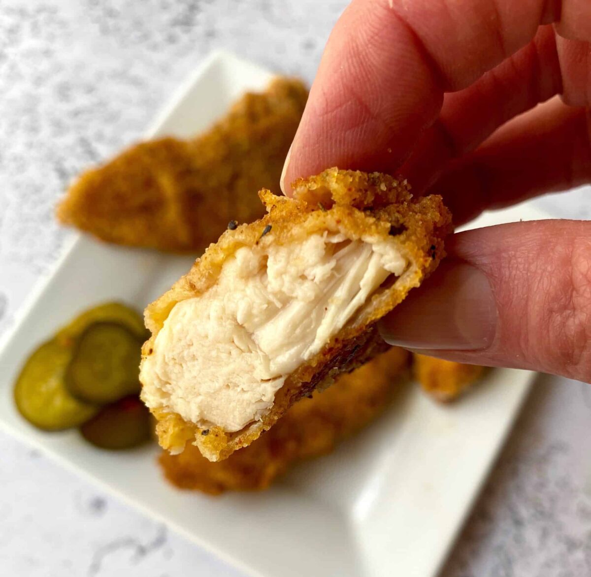
[[[406,351],[392,347],[341,375],[329,389],[301,399],[272,429],[225,461],[208,461],[193,445],[180,455],[164,451],[164,475],[177,487],[211,495],[266,489],[295,462],[331,452],[374,420],[406,376],[408,359]]]

